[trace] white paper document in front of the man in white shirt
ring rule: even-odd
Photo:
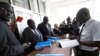
[[[66,48],[66,47],[72,48],[79,45],[76,39],[74,40],[63,39],[63,40],[59,40],[59,43],[62,48]]]

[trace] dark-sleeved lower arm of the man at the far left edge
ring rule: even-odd
[[[17,40],[15,37],[13,37],[13,40]],[[5,31],[0,29],[0,53],[4,56],[14,56],[14,55],[19,55],[24,52],[23,47],[19,42],[16,42],[18,44],[12,45],[11,41],[8,40],[9,38],[7,37]]]

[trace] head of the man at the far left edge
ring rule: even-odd
[[[13,15],[13,9],[11,6],[6,6],[4,8],[1,8],[0,11],[0,17],[4,20],[4,21],[9,21],[9,19],[11,19],[11,16]]]

